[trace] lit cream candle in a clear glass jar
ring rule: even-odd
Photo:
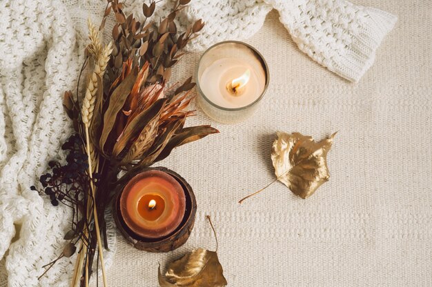
[[[267,86],[266,62],[246,43],[217,43],[199,61],[199,105],[217,121],[233,123],[252,115]]]

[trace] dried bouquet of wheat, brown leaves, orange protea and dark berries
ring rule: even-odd
[[[168,17],[148,21],[156,3],[143,4],[144,21],[124,14],[123,3],[108,0],[101,26],[88,23],[90,43],[81,74],[88,70],[85,95],[68,91],[63,106],[73,121],[75,134],[63,144],[67,162],[52,161],[41,176],[41,194],[73,210],[69,243],[59,256],[78,253],[72,286],[88,286],[95,253],[107,286],[103,248],[108,248],[104,213],[117,183],[141,168],[170,155],[177,146],[218,132],[210,126],[185,128],[191,101],[192,77],[166,88],[171,69],[184,55],[188,41],[204,26],[201,20],[179,32],[175,18],[190,0],[179,0]],[[99,30],[115,17],[112,42],[101,43]],[[126,173],[117,180],[121,170]],[[35,186],[32,189],[37,190]],[[57,261],[57,259],[56,259]],[[55,261],[47,265],[47,270]],[[99,262],[98,262],[99,263]],[[45,273],[43,273],[45,274]]]

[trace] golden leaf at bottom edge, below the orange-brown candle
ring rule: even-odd
[[[193,250],[168,265],[165,277],[159,267],[161,287],[222,287],[227,282],[217,253],[202,248]]]

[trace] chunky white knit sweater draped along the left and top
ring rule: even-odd
[[[76,86],[86,20],[97,23],[106,1],[0,3],[0,286],[68,286],[75,257],[61,259],[37,277],[63,249],[71,212],[51,206],[29,187],[49,159],[61,157],[57,151],[71,131],[61,95]],[[141,1],[127,3],[126,12],[142,16]],[[155,17],[172,5],[158,3]],[[251,37],[273,8],[300,50],[349,81],[358,81],[372,65],[395,23],[389,13],[344,0],[195,0],[182,11],[179,26],[204,19],[202,36],[188,46],[200,51],[217,41]],[[110,27],[112,22],[108,34]],[[110,224],[108,229],[109,266],[115,228]]]

